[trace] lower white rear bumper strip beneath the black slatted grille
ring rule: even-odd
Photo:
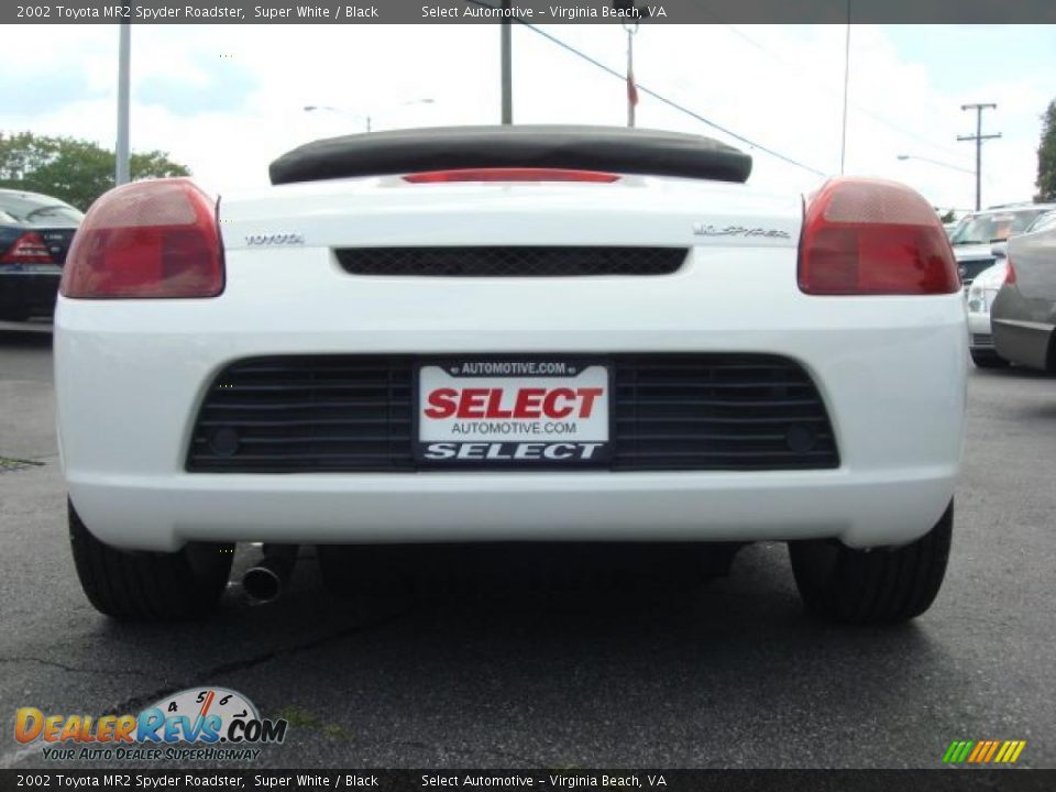
[[[934,525],[953,465],[856,473],[78,475],[112,543],[785,540],[898,544]]]

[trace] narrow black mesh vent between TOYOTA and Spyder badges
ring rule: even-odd
[[[344,248],[353,275],[405,277],[583,277],[670,275],[685,248]]]

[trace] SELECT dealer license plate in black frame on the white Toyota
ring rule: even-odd
[[[563,468],[609,459],[608,366],[473,359],[418,371],[416,458],[432,466]]]

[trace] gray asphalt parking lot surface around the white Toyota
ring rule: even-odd
[[[211,622],[152,627],[77,583],[50,340],[0,326],[0,458],[30,463],[0,468],[0,767],[58,769],[14,740],[18,707],[136,712],[204,684],[290,721],[265,767],[936,768],[954,739],[1056,766],[1056,377],[972,371],[950,566],[911,625],[812,619],[763,544],[689,592],[361,602],[327,596],[306,548],[278,602],[233,584]]]

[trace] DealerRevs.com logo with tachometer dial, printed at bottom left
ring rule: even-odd
[[[40,743],[50,760],[209,761],[256,759],[286,739],[289,724],[262,718],[256,706],[227,688],[190,688],[139,715],[46,714],[21,707],[14,738]]]

